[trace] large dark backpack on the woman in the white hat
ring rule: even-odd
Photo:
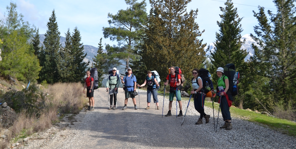
[[[227,92],[231,93],[232,96],[236,96],[238,94],[237,79],[239,79],[239,72],[235,71],[234,64],[227,64],[224,67],[224,75],[227,76],[229,80],[229,89]],[[225,82],[224,77],[223,77],[223,81]]]

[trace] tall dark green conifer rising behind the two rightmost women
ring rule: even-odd
[[[220,27],[219,32],[216,32],[216,41],[214,43],[215,48],[211,53],[213,64],[210,67],[210,72],[215,73],[218,67],[224,67],[228,63],[233,63],[236,67],[236,71],[239,71],[241,76],[244,76],[247,72],[247,65],[244,62],[244,58],[247,56],[246,50],[242,50],[241,41],[242,25],[240,24],[242,18],[239,18],[237,14],[237,8],[234,8],[231,0],[227,0],[225,8],[220,7],[222,14],[220,14],[221,21],[217,21]],[[214,84],[217,82],[217,75],[213,75]],[[240,81],[243,77],[240,78]],[[238,86],[239,92],[244,94],[246,86],[241,86],[244,83],[240,83]],[[240,94],[239,94],[240,96]],[[237,101],[237,100],[234,100]],[[238,103],[237,103],[238,104]]]

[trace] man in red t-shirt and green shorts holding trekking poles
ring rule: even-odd
[[[169,84],[168,81],[170,80],[170,94],[169,94],[169,105],[168,105],[168,114],[166,114],[165,116],[172,116],[171,113],[171,109],[172,109],[172,103],[173,103],[173,99],[175,95],[177,97],[177,101],[179,103],[179,107],[180,107],[180,113],[178,114],[178,117],[183,116],[182,114],[182,102],[181,102],[181,92],[178,89],[178,91],[176,90],[177,86],[181,85],[181,75],[177,75],[177,80],[176,80],[176,73],[175,73],[175,67],[171,66],[170,67],[170,74],[166,77],[166,82],[164,82],[164,85]]]

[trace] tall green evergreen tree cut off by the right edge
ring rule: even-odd
[[[268,89],[264,90],[272,95],[274,103],[280,103],[287,110],[296,106],[296,17],[295,0],[274,0],[276,13],[267,11],[259,6],[259,12],[254,13],[258,19],[258,26],[254,27],[255,35],[251,35],[260,44],[253,46],[254,66],[259,76],[267,77]]]

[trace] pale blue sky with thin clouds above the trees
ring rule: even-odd
[[[219,27],[217,21],[220,21],[220,6],[224,7],[226,0],[192,0],[187,6],[190,9],[199,10],[196,22],[200,30],[205,30],[200,39],[203,43],[209,44],[215,41],[215,32]],[[107,14],[110,12],[116,14],[120,9],[126,9],[124,0],[14,0],[17,4],[17,11],[24,15],[24,20],[29,21],[39,27],[39,34],[44,34],[47,30],[46,24],[55,10],[57,23],[61,36],[65,37],[65,32],[69,28],[73,32],[74,27],[80,30],[82,42],[84,45],[97,47],[99,39],[103,37],[102,27],[108,27]],[[272,0],[232,0],[234,7],[238,9],[239,17],[242,19],[242,35],[254,33],[253,27],[258,24],[253,16],[252,10],[258,12],[257,6],[263,6],[268,10],[276,12]],[[0,19],[3,19],[10,0],[0,0]],[[150,4],[147,3],[147,13],[149,14]],[[250,6],[247,6],[250,5]],[[103,37],[102,43],[110,45],[117,44]]]

